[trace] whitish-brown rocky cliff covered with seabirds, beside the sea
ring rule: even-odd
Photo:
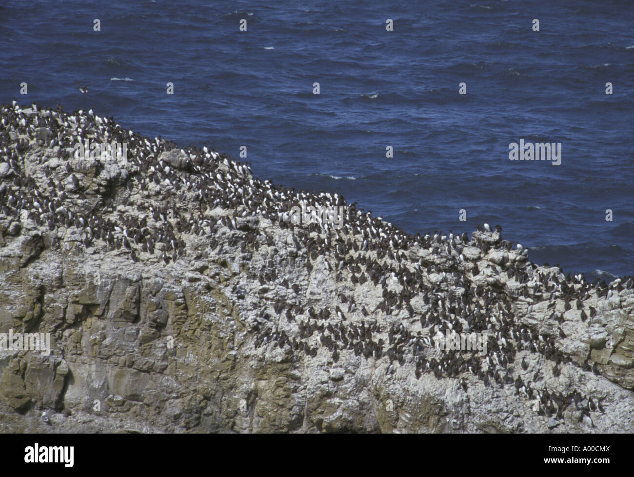
[[[0,351],[0,432],[634,431],[631,279],[335,195],[306,200],[343,228],[294,224],[301,192],[215,152],[92,112],[2,118],[0,333],[51,351]],[[73,157],[113,138],[126,162]],[[488,353],[434,348],[450,328]]]

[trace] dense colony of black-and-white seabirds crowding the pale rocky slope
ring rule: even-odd
[[[328,353],[333,362],[344,353],[354,353],[366,360],[383,360],[390,377],[408,364],[417,379],[425,373],[456,379],[465,393],[469,383],[479,380],[485,386],[510,389],[519,399],[529,400],[537,414],[555,419],[563,419],[570,406],[581,411],[580,420],[590,423],[593,413],[603,411],[602,398],[574,389],[549,390],[542,367],[526,379],[529,364],[525,357],[517,363],[515,356],[522,350],[543,355],[540,359],[550,363],[545,369],[559,376],[562,365],[574,365],[555,346],[565,337],[560,327],[564,313],[577,310],[579,323],[587,324],[597,310],[586,301],[630,289],[631,277],[608,286],[598,280],[589,283],[583,275],[564,277],[557,266],[538,267],[521,245],[503,240],[500,226],[494,230],[486,224],[478,226],[472,237],[441,232],[411,235],[356,204],[346,204],[337,193],[275,186],[254,178],[247,164],[206,146],[179,150],[171,141],[160,136],[150,140],[92,110],[67,113],[61,107],[36,104],[23,108],[13,101],[1,107],[0,117],[0,219],[32,220],[61,232],[58,237],[74,230],[86,248],[100,247],[135,262],[165,265],[187,256],[193,237],[205,240],[209,256],[223,251],[254,254],[273,245],[273,236],[257,221],[287,230],[287,245],[296,252],[294,266],[301,267],[306,282],[314,268],[327,270],[335,277],[337,298],[330,306],[315,308],[302,285],[278,275],[275,256],[269,254],[266,266],[245,271],[243,278],[258,280],[262,287],[281,285],[288,289],[288,298],[259,302],[259,311],[249,320],[258,352],[279,347],[295,359]],[[85,172],[89,164],[97,177],[117,164],[75,159],[75,145],[86,140],[126,143],[127,164],[121,166],[117,180],[127,191],[152,195],[155,201],[128,204],[127,197],[112,197],[107,190],[87,197],[87,185],[80,183],[77,172]],[[25,170],[25,154],[34,150],[48,183],[36,183],[33,171]],[[162,160],[171,151],[181,159]],[[55,171],[49,168],[51,159],[58,165]],[[192,196],[195,204],[188,202]],[[292,207],[302,203],[344,207],[344,226],[289,221]],[[120,212],[120,205],[133,206],[136,214]],[[495,257],[495,263],[489,261],[480,270],[477,262],[483,256]],[[503,284],[496,279],[500,275],[505,275]],[[373,309],[364,302],[370,291],[382,295]],[[236,300],[244,299],[244,293],[242,286],[233,287]],[[549,303],[548,320],[557,331],[539,333],[516,319],[519,306],[525,311],[528,307],[530,313],[541,302]],[[482,356],[478,350],[438,351],[434,344],[446,330],[488,336],[488,352]],[[598,374],[600,366],[586,360],[583,370]]]

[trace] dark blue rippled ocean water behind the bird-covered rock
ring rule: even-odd
[[[411,233],[500,224],[536,263],[607,280],[634,274],[633,25],[629,0],[5,1],[0,102],[244,145],[261,178]],[[561,165],[508,160],[521,138],[562,143]]]

